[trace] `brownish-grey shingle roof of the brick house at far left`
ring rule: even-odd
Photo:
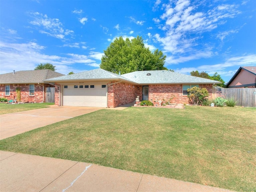
[[[0,74],[0,84],[43,83],[45,79],[63,75],[64,74],[49,69],[15,71],[12,73]]]

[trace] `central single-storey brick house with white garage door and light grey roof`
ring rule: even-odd
[[[188,104],[187,89],[206,88],[212,97],[212,86],[220,82],[167,70],[136,71],[118,75],[95,69],[45,80],[56,85],[55,104],[59,106],[118,107],[140,100],[168,100]]]

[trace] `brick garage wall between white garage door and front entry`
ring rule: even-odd
[[[142,86],[127,83],[108,85],[108,107],[110,108],[135,102],[136,96],[142,98]]]

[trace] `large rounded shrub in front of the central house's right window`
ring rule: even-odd
[[[188,89],[188,98],[193,105],[200,105],[208,98],[209,93],[206,88],[192,87]]]

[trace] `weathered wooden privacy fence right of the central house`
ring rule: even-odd
[[[234,97],[238,106],[256,107],[256,88],[215,88],[212,91],[212,98]]]

